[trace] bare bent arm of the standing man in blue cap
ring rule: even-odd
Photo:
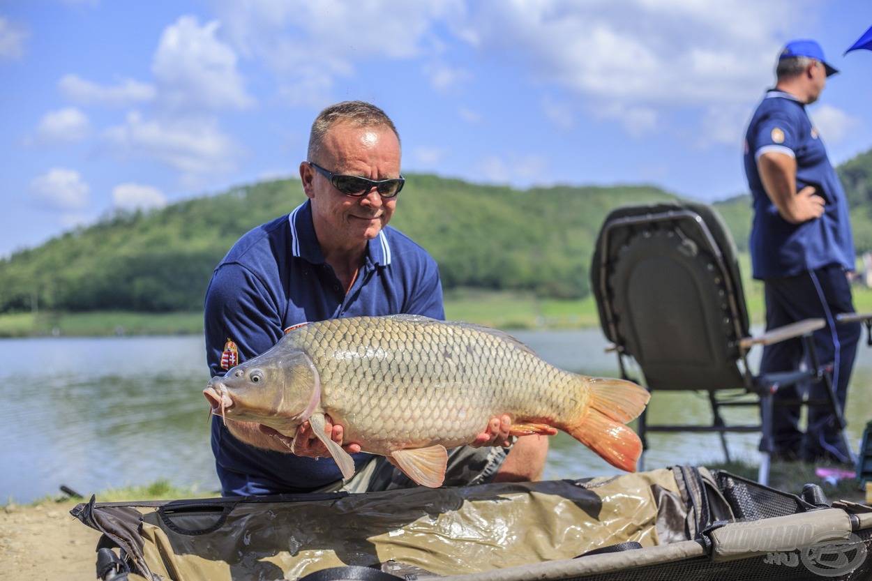
[[[814,186],[796,191],[796,159],[793,156],[767,151],[757,159],[757,170],[766,195],[787,222],[800,224],[823,215],[824,199],[815,194]]]

